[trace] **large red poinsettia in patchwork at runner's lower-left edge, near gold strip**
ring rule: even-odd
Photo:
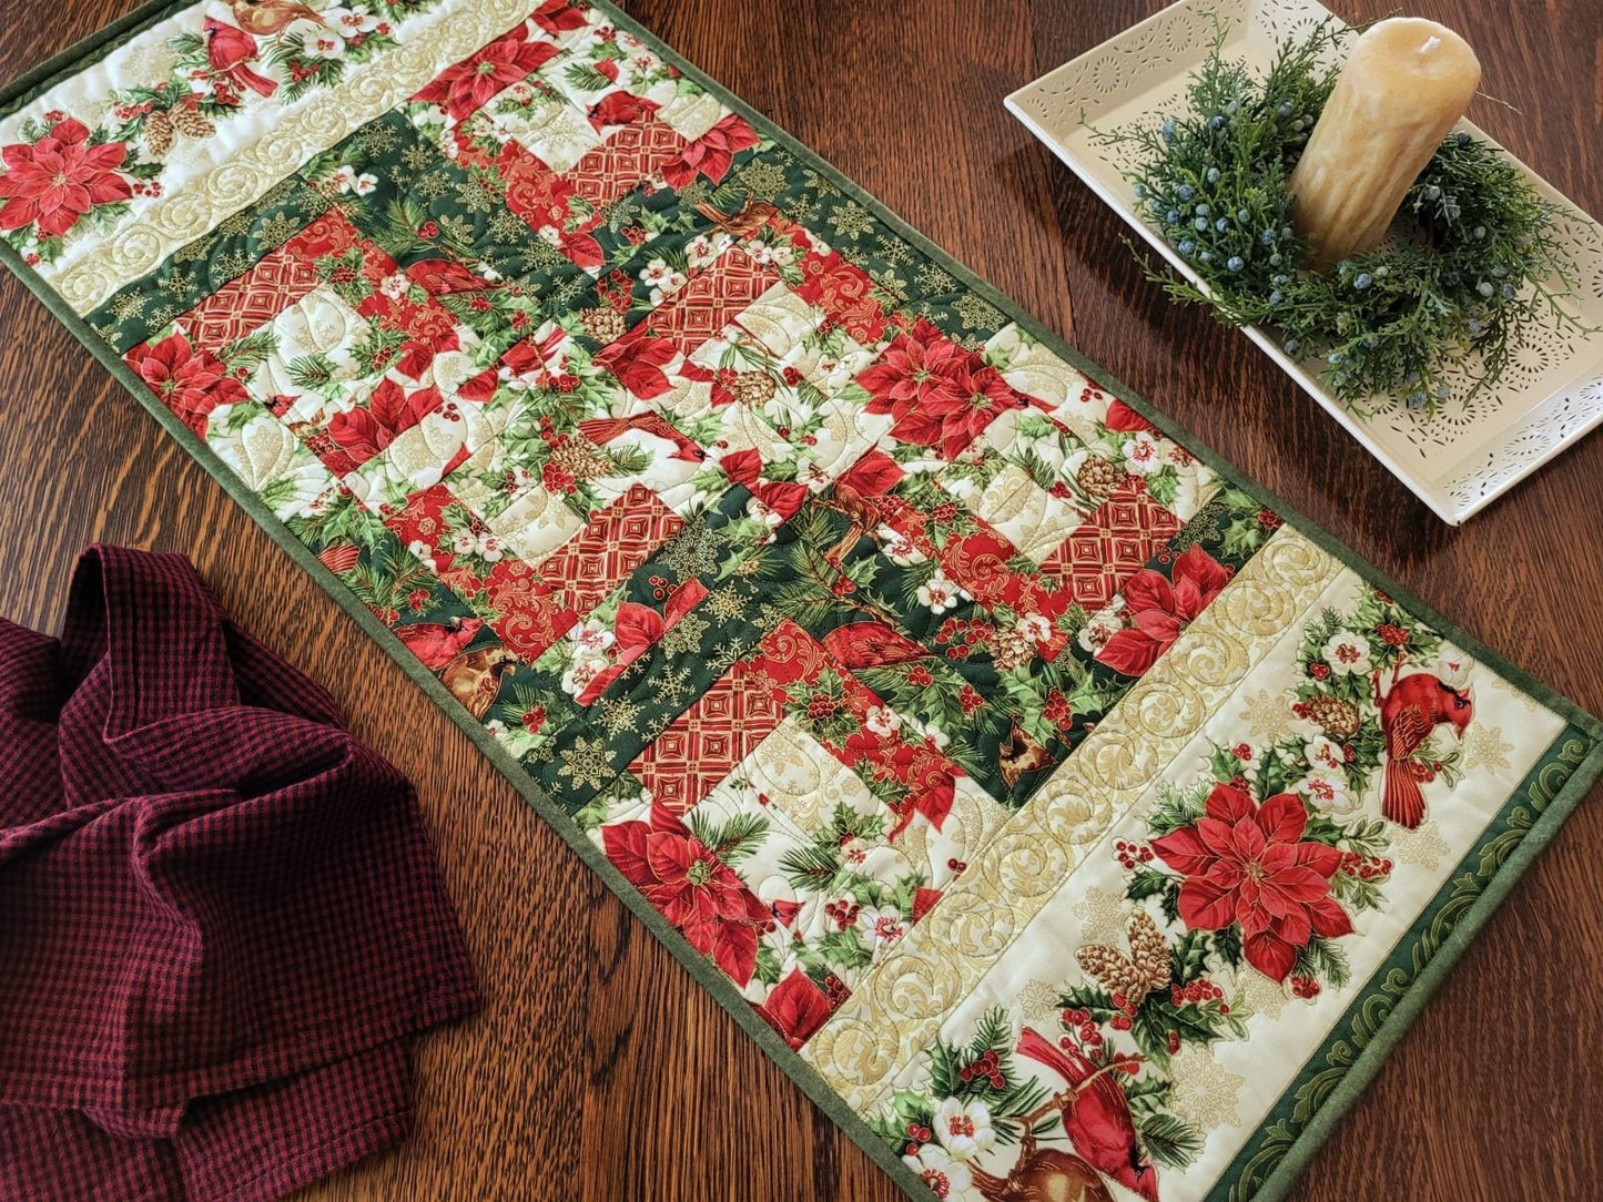
[[[710,957],[737,986],[752,979],[757,939],[774,917],[683,822],[652,808],[651,822],[603,827],[601,843],[624,878],[691,947]]]

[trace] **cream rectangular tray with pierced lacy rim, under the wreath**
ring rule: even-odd
[[[1306,34],[1327,16],[1329,10],[1313,0],[1181,0],[1020,88],[1007,98],[1007,107],[1175,271],[1201,284],[1159,232],[1137,216],[1135,196],[1120,175],[1130,165],[1129,149],[1098,141],[1096,133],[1156,125],[1164,114],[1183,111],[1188,77],[1207,54],[1215,21],[1228,27],[1225,56],[1263,69],[1278,43]],[[1468,122],[1460,128],[1484,138]],[[1603,231],[1545,179],[1520,167],[1542,196],[1566,210],[1560,234],[1579,276],[1566,308],[1582,325],[1603,327]],[[1377,397],[1359,417],[1321,386],[1319,361],[1289,357],[1273,333],[1255,327],[1246,335],[1454,526],[1603,422],[1603,337],[1558,321],[1536,332],[1496,389],[1465,399],[1468,386],[1460,381],[1428,417],[1409,410],[1401,397]]]

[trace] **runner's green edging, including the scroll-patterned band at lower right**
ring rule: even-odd
[[[1558,740],[1526,782],[1505,805],[1497,822],[1488,829],[1488,835],[1497,832],[1496,838],[1470,853],[1459,865],[1448,885],[1443,886],[1431,906],[1420,915],[1414,928],[1398,942],[1391,958],[1380,971],[1371,978],[1367,987],[1351,1005],[1348,1013],[1332,1029],[1330,1037],[1319,1051],[1303,1066],[1298,1077],[1286,1090],[1271,1109],[1265,1123],[1242,1148],[1218,1186],[1209,1196],[1210,1202],[1278,1202],[1290,1189],[1297,1176],[1308,1165],[1314,1152],[1329,1138],[1335,1123],[1353,1106],[1364,1087],[1379,1072],[1387,1055],[1419,1016],[1430,995],[1436,990],[1448,971],[1464,954],[1475,934],[1486,925],[1492,912],[1510,893],[1515,881],[1524,873],[1553,833],[1581,803],[1592,785],[1603,776],[1603,723],[1590,713],[1581,710],[1574,702],[1553,692],[1540,681],[1532,680],[1518,667],[1508,664],[1480,639],[1460,630],[1430,606],[1423,604],[1407,588],[1385,575],[1372,564],[1364,563],[1348,547],[1339,542],[1327,530],[1313,524],[1294,508],[1281,502],[1266,489],[1242,478],[1230,463],[1207,449],[1191,436],[1185,426],[1173,418],[1157,412],[1145,397],[1133,393],[1120,381],[1109,377],[1101,367],[1090,362],[1074,348],[1068,346],[1058,335],[1042,325],[1029,314],[1007,300],[987,282],[975,276],[968,268],[931,244],[899,216],[885,208],[853,181],[840,175],[834,167],[810,151],[805,144],[792,138],[777,125],[753,112],[741,99],[720,87],[715,80],[686,63],[683,56],[664,45],[660,38],[640,26],[625,13],[620,13],[606,0],[592,0],[596,8],[604,10],[612,21],[643,42],[659,54],[678,66],[689,79],[745,117],[760,133],[782,143],[798,160],[813,167],[819,175],[840,188],[864,207],[870,208],[901,237],[928,255],[935,263],[951,272],[957,280],[971,288],[976,295],[995,306],[1002,314],[1016,321],[1024,330],[1039,338],[1053,353],[1074,364],[1087,377],[1095,380],[1109,393],[1124,399],[1130,407],[1151,420],[1170,438],[1180,441],[1197,458],[1257,498],[1266,508],[1281,514],[1297,527],[1300,534],[1311,538],[1321,548],[1335,556],[1340,563],[1356,571],[1361,577],[1380,587],[1393,598],[1406,604],[1425,622],[1439,630],[1446,638],[1464,647],[1470,655],[1496,668],[1512,684],[1518,686],[1569,723],[1569,729],[1561,732]],[[63,74],[80,67],[85,63],[103,58],[117,45],[135,37],[139,30],[160,21],[170,11],[186,6],[183,0],[149,0],[143,6],[128,13],[122,19],[101,29],[98,34],[69,46],[61,54],[42,63],[21,79],[0,88],[0,115],[13,112],[30,96],[46,88]],[[199,439],[184,423],[175,417],[155,396],[144,388],[133,370],[112,351],[90,327],[69,309],[61,298],[51,292],[50,285],[29,268],[8,244],[0,242],[0,261],[3,261],[26,285],[38,296],[45,308],[53,313],[83,346],[120,380],[128,391],[143,404],[167,433],[192,455],[202,468],[260,524],[268,535],[289,555],[317,585],[333,598],[337,604],[354,620],[375,643],[378,643],[402,672],[439,707],[446,710],[457,726],[471,739],[479,750],[489,756],[495,768],[508,779],[513,789],[551,825],[556,833],[574,849],[590,870],[596,872],[620,899],[660,939],[684,970],[705,989],[729,1016],[757,1040],[758,1047],[779,1064],[779,1067],[824,1111],[862,1151],[883,1168],[896,1184],[915,1199],[933,1197],[917,1175],[898,1157],[869,1127],[851,1111],[838,1095],[819,1077],[800,1055],[797,1055],[741,997],[733,982],[725,978],[709,960],[701,957],[684,938],[668,926],[667,922],[630,886],[612,867],[600,848],[596,848],[583,832],[567,819],[535,780],[511,758],[489,734],[483,724],[462,708],[462,705],[446,691],[439,680],[406,652],[404,644],[378,619],[375,619],[356,596],[346,590],[338,577],[330,572],[306,547],[234,476],[228,466]],[[1585,740],[1573,737],[1582,736]],[[1555,774],[1561,784],[1557,790],[1548,790],[1547,777]],[[1508,841],[1508,832],[1524,830],[1523,837]],[[1478,870],[1476,870],[1478,865]],[[1465,885],[1465,875],[1475,878],[1473,888]],[[1451,915],[1451,922],[1443,926],[1443,915]],[[1412,981],[1401,992],[1388,990],[1382,982],[1395,978],[1396,971],[1412,973]],[[1379,1003],[1379,1008],[1377,1008]],[[1379,1014],[1379,1019],[1374,1016]],[[1353,1035],[1361,1035],[1361,1051],[1348,1055],[1353,1047]],[[1342,1050],[1347,1050],[1343,1053]],[[1345,1064],[1342,1063],[1345,1061]],[[1292,1119],[1297,1109],[1300,1090],[1321,1072],[1329,1074],[1340,1069],[1334,1087],[1319,1090],[1319,1101],[1311,1114],[1303,1119]],[[1239,1183],[1247,1183],[1250,1192],[1241,1192]]]

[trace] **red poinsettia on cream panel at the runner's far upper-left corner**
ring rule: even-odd
[[[0,149],[0,229],[37,221],[40,237],[61,237],[95,205],[127,200],[133,191],[117,175],[127,157],[123,143],[90,146],[88,127],[72,119],[56,122],[32,146]]]

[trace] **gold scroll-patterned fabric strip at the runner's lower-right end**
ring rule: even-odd
[[[941,904],[802,1050],[866,1109],[933,1042],[946,1016],[1314,604],[1339,564],[1282,527],[1186,628]]]

